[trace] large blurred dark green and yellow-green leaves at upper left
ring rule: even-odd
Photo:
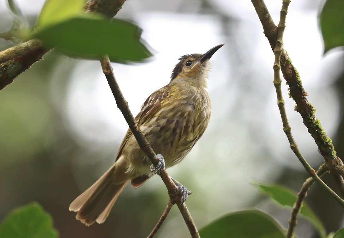
[[[48,47],[84,59],[108,55],[113,62],[128,63],[152,55],[140,40],[141,30],[137,25],[84,13],[84,3],[84,0],[47,0],[34,30],[26,37],[40,39]]]

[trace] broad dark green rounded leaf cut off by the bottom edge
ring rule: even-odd
[[[202,238],[284,238],[284,230],[269,215],[258,210],[229,213],[204,226]]]

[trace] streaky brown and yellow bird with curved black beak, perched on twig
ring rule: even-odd
[[[180,163],[208,126],[211,115],[211,101],[206,91],[209,59],[223,45],[217,45],[205,54],[180,57],[170,82],[153,92],[135,117],[166,168]],[[153,176],[152,171],[157,168],[150,165],[149,158],[128,129],[115,163],[71,203],[69,211],[77,212],[76,219],[87,226],[94,222],[104,223],[129,181],[132,188],[139,188]]]

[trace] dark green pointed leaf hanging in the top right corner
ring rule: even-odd
[[[325,53],[338,46],[344,46],[344,1],[327,0],[320,13],[320,28]]]

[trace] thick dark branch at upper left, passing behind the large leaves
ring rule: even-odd
[[[85,10],[87,12],[98,12],[105,14],[109,18],[113,18],[116,13],[121,9],[125,0],[91,0],[86,4]],[[33,39],[29,42],[37,42]],[[22,45],[24,44],[24,45]],[[20,45],[25,46],[25,43]],[[30,44],[30,43],[29,43]],[[43,48],[38,44],[31,49],[26,48],[26,52],[18,53],[15,57],[9,57],[5,63],[2,63],[0,56],[0,90],[5,88],[8,84],[12,83],[22,72],[30,68],[31,65],[42,59],[42,56],[49,52],[50,49]],[[14,46],[16,47],[16,46]],[[17,47],[20,47],[19,45]],[[13,48],[13,47],[12,47]],[[25,47],[24,47],[25,48]],[[5,54],[5,53],[4,53]],[[18,57],[19,56],[19,57]],[[4,58],[6,59],[6,58]]]

